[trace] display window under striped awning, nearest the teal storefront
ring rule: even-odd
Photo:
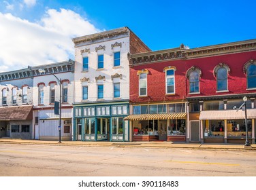
[[[134,121],[133,135],[158,135],[158,120]]]

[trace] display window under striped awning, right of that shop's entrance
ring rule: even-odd
[[[171,119],[170,126],[168,126],[168,135],[185,135],[185,134],[186,134],[186,120]]]

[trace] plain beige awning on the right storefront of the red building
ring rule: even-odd
[[[256,118],[256,109],[247,109],[247,119]],[[224,119],[245,119],[244,111],[242,110],[214,110],[214,111],[201,111],[200,120],[224,120]]]

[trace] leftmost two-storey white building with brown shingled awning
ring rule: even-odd
[[[0,73],[0,138],[33,138],[33,79],[29,69]]]

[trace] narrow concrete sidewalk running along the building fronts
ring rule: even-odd
[[[234,144],[200,144],[172,141],[150,141],[150,142],[108,142],[108,141],[47,141],[47,140],[22,140],[14,138],[0,138],[1,144],[20,144],[20,145],[57,145],[57,146],[81,146],[81,147],[144,147],[144,148],[163,148],[163,149],[233,149],[233,150],[253,150],[256,151],[256,144],[251,147]]]

